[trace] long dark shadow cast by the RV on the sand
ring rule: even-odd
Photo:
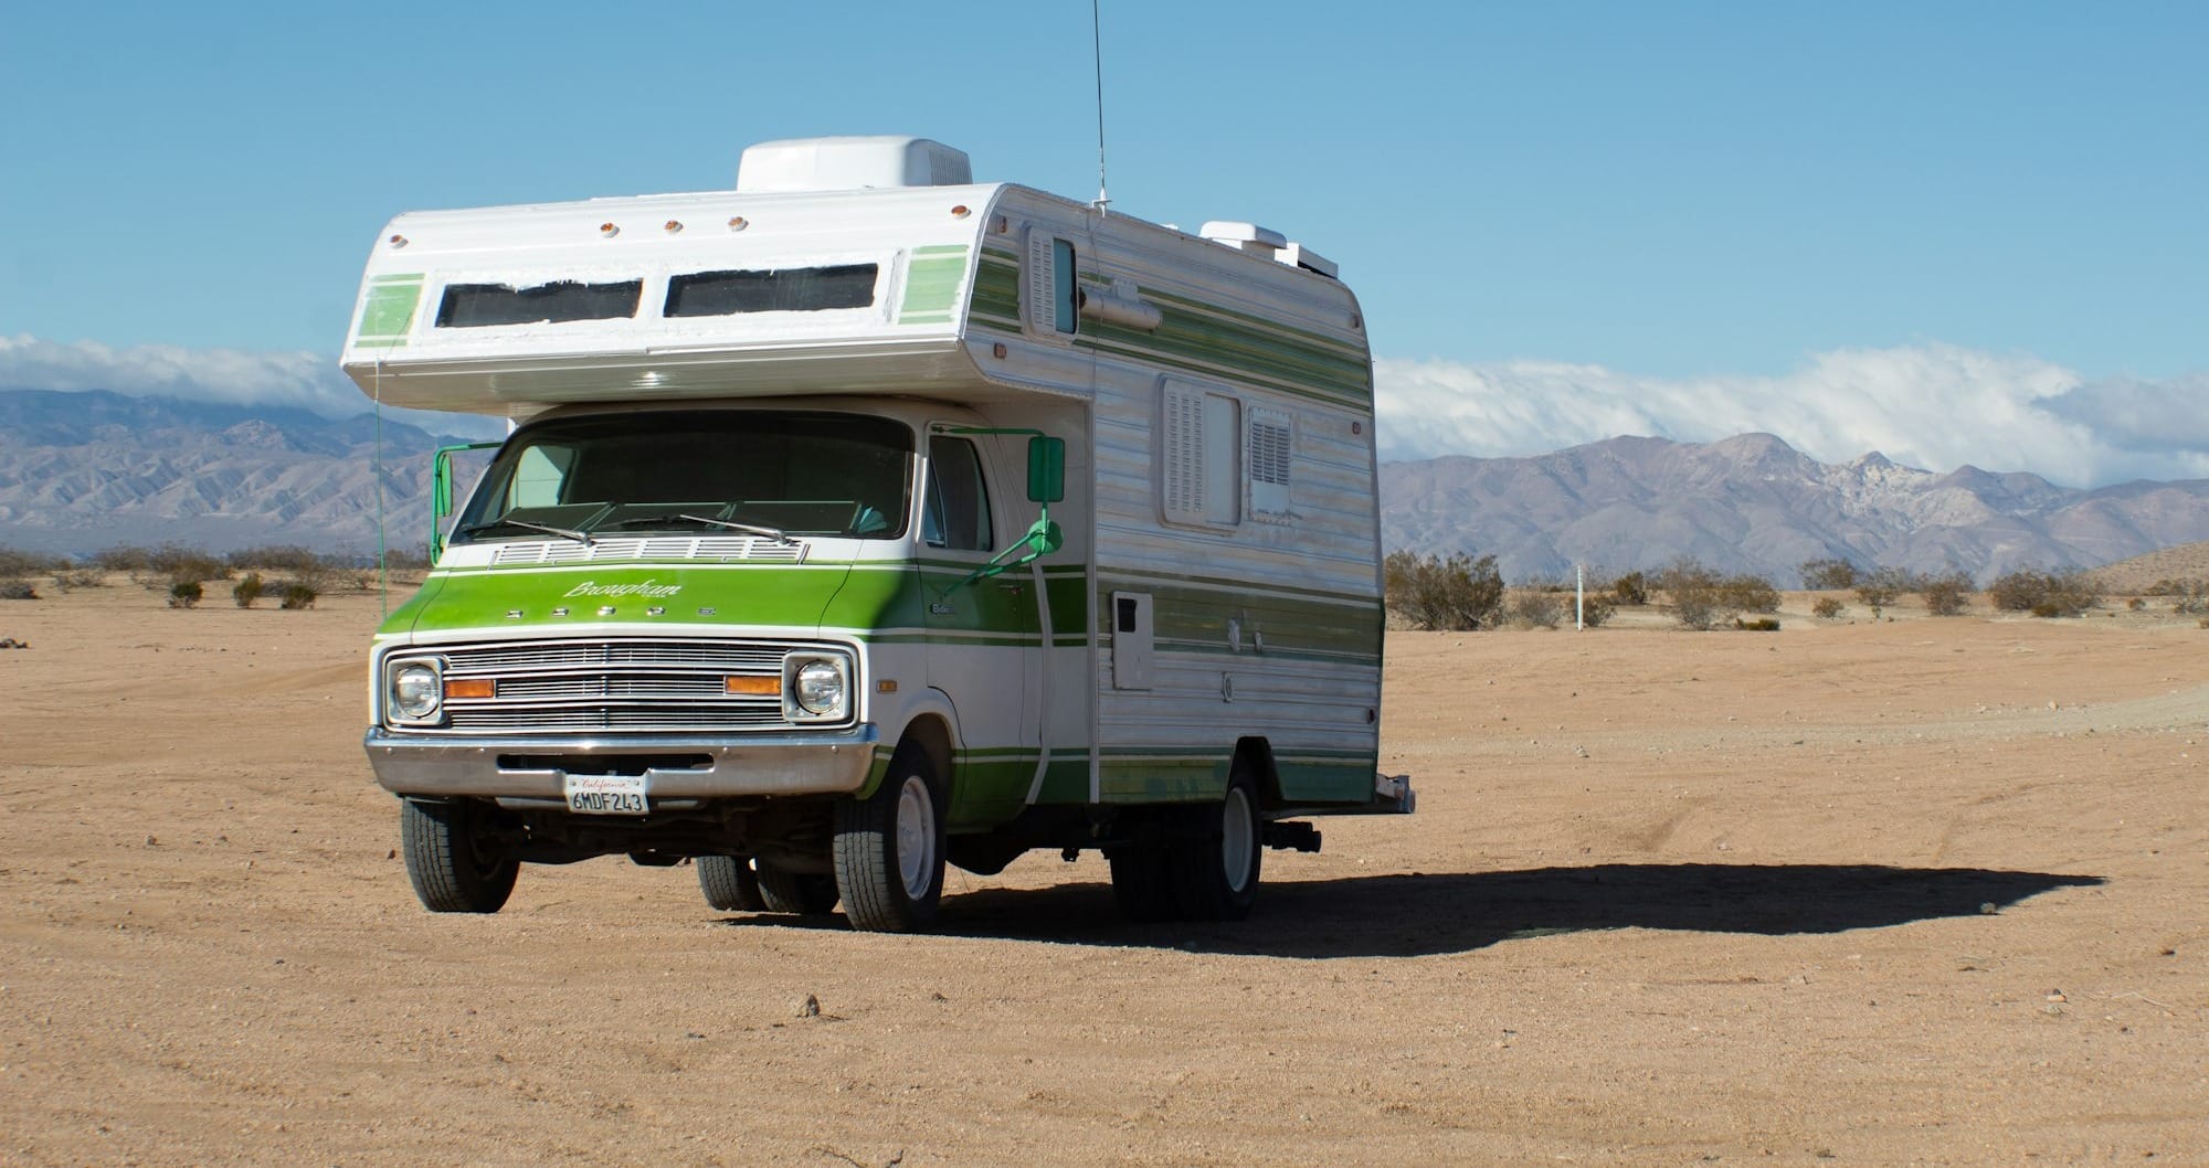
[[[954,877],[934,932],[1281,958],[1434,956],[1626,927],[1765,936],[1878,930],[1979,916],[1986,905],[1999,912],[2041,892],[2101,883],[2101,877],[1986,868],[1604,863],[1268,881],[1250,921],[1131,925],[1102,883],[961,894]],[[753,916],[742,923],[795,921]]]

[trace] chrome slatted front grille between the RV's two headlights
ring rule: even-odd
[[[442,647],[446,682],[490,680],[493,698],[446,698],[429,733],[782,731],[782,658],[828,645],[760,640],[526,640]],[[767,696],[725,678],[775,678]]]

